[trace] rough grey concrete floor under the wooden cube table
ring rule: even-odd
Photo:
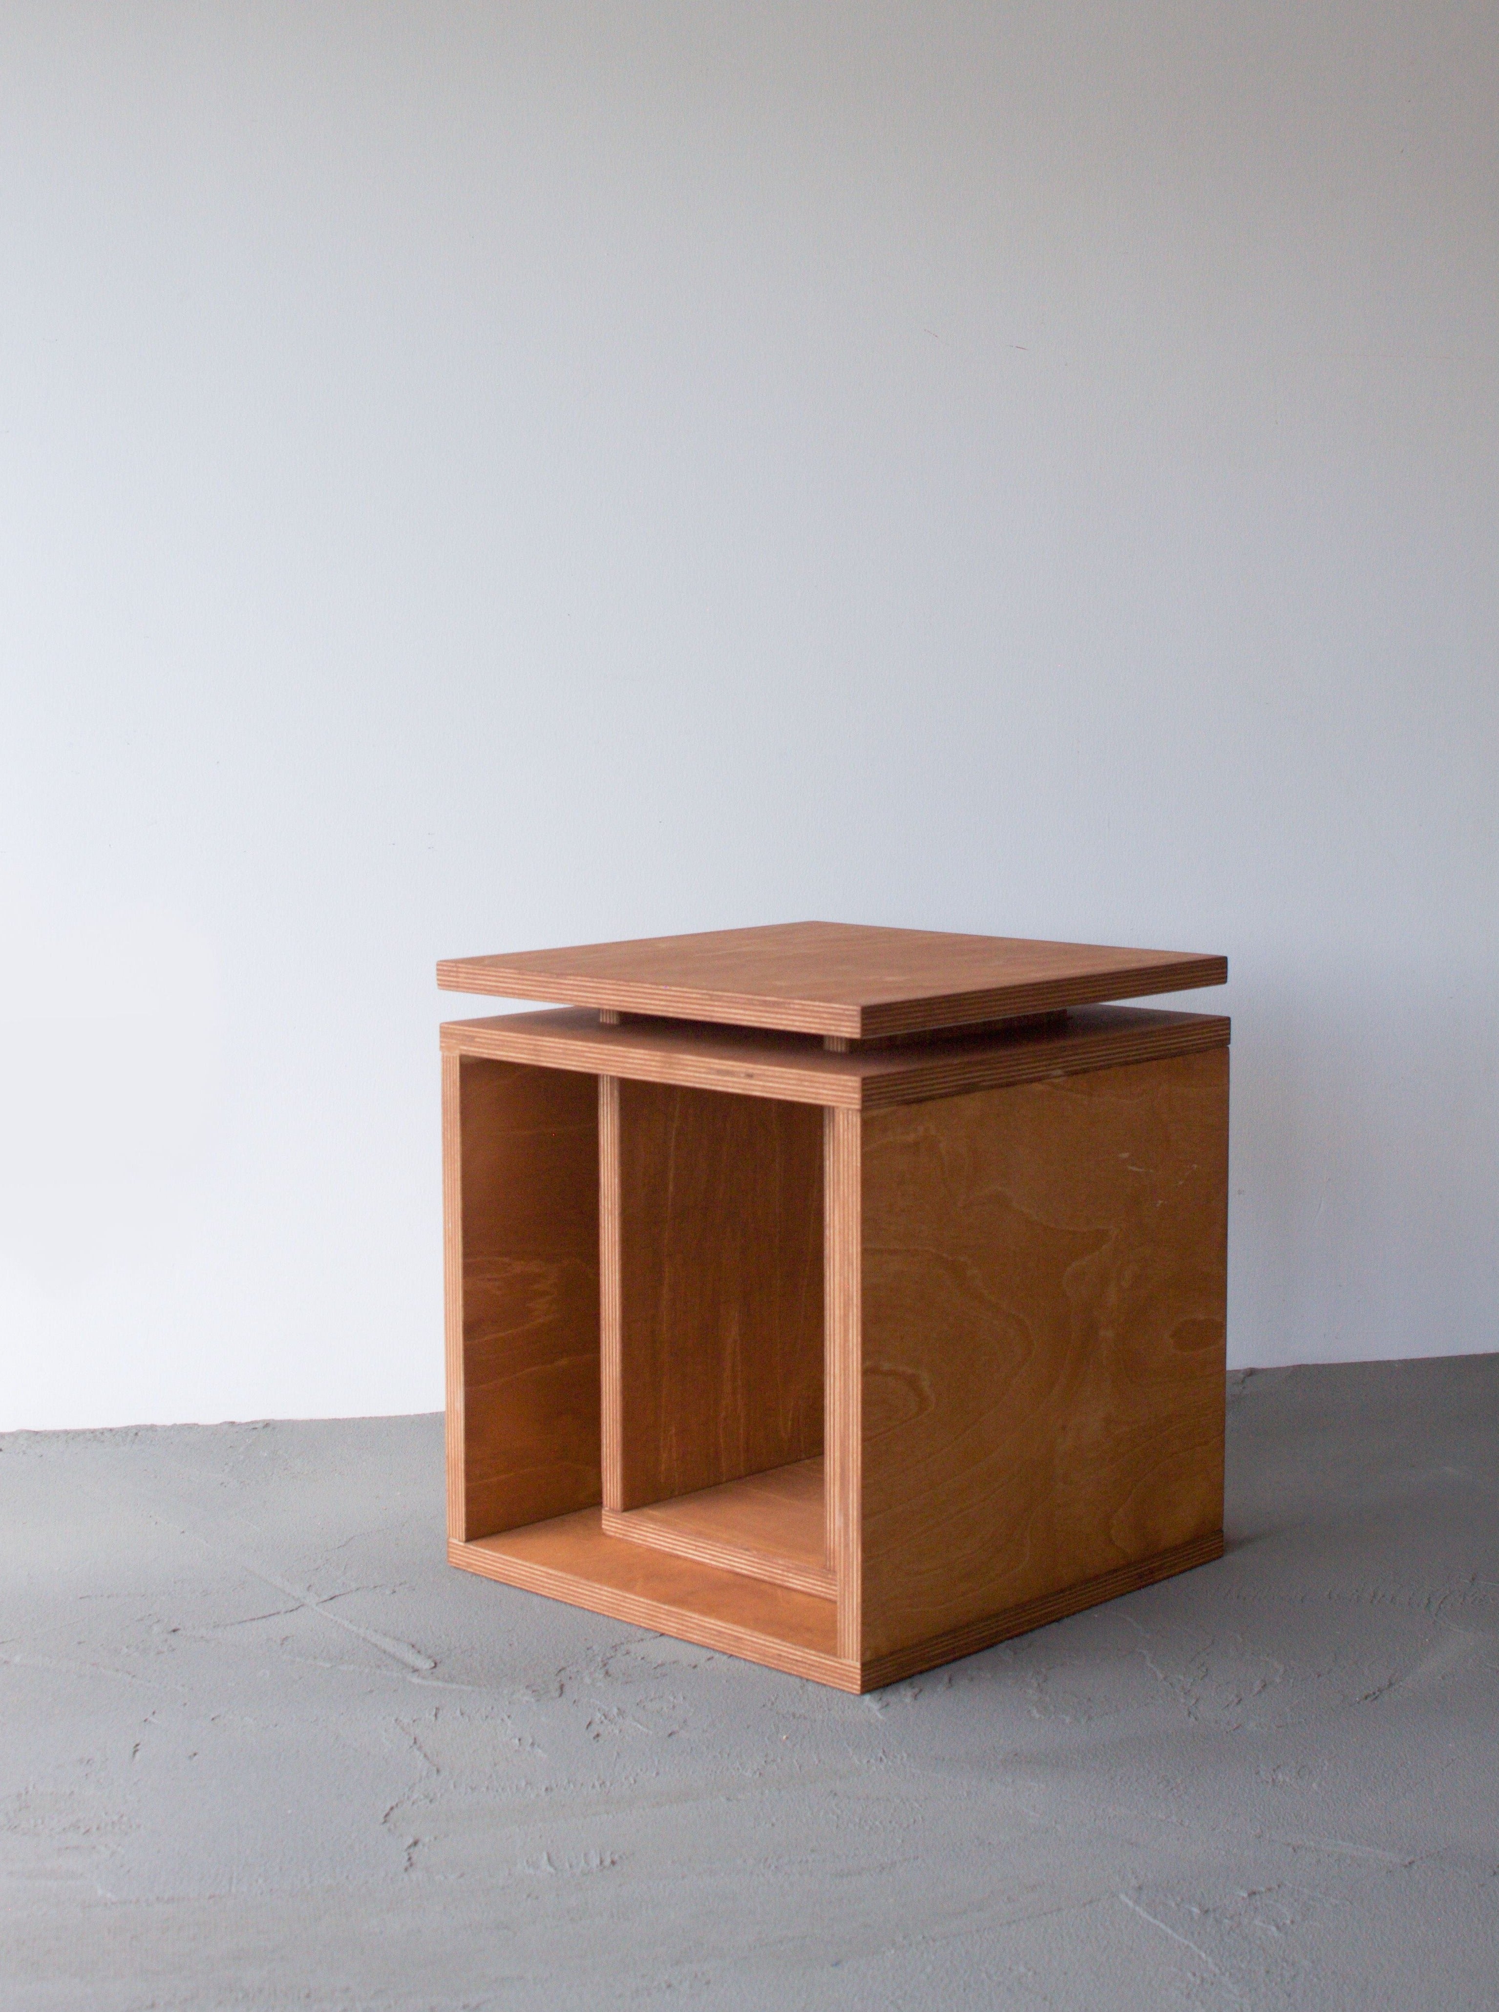
[[[0,1439],[0,2006],[1499,2006],[1499,1356],[869,1698],[443,1563],[437,1418]]]

